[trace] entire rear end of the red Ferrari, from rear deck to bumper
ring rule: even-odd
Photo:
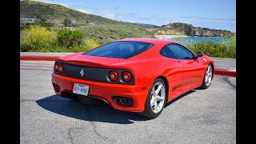
[[[104,58],[83,53],[58,58],[54,63],[54,91],[64,98],[99,98],[117,110],[142,112],[150,84],[136,85],[127,58]]]

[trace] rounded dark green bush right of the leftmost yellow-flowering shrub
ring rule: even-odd
[[[81,45],[84,34],[81,30],[62,29],[57,31],[59,46],[70,48]]]

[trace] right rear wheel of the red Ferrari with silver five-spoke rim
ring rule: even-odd
[[[158,90],[158,87],[160,90]],[[158,92],[158,94],[156,94]],[[151,103],[151,104],[150,104]],[[145,110],[138,113],[142,117],[157,118],[166,105],[166,84],[161,78],[156,78],[150,86],[145,102]]]

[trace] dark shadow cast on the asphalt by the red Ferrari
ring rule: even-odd
[[[186,94],[182,94],[180,97],[168,102],[166,106],[169,106],[179,98],[183,98],[187,94],[193,92],[193,90],[190,90]],[[83,121],[131,124],[136,121],[150,120],[150,118],[143,118],[136,113],[115,110],[106,102],[96,98],[91,98],[90,103],[85,104],[68,98],[62,98],[54,94],[49,97],[39,99],[36,102],[38,103],[38,106],[41,106],[53,113],[65,115],[70,118],[77,118]]]

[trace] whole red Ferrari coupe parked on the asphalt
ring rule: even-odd
[[[64,98],[100,98],[117,110],[147,118],[197,87],[207,89],[214,61],[178,42],[128,38],[57,58],[52,83]]]

